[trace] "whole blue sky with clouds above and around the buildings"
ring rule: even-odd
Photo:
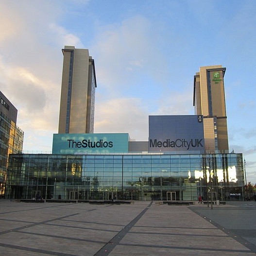
[[[193,76],[222,65],[230,151],[256,183],[255,0],[1,0],[0,90],[24,153],[50,153],[65,45],[95,60],[95,133],[148,139],[149,115],[192,115]]]

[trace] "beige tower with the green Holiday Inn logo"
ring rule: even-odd
[[[224,74],[221,65],[200,67],[194,76],[193,105],[204,116],[206,151],[228,151]]]

